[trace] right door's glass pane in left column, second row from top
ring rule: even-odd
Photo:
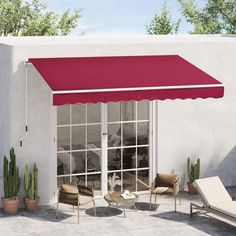
[[[121,125],[108,124],[108,147],[118,147],[121,143]]]

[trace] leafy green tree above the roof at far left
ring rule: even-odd
[[[0,0],[0,36],[68,35],[81,17],[81,10],[46,9],[40,0]]]

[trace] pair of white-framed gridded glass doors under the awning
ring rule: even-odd
[[[57,108],[57,185],[78,181],[96,194],[147,190],[149,184],[150,102],[76,104]]]

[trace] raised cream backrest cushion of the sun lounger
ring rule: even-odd
[[[232,201],[218,176],[198,179],[193,184],[207,206]]]

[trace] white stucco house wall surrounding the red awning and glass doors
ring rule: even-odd
[[[165,100],[158,102],[157,168],[186,173],[186,159],[197,156],[202,176],[217,174],[226,185],[236,183],[236,38],[222,36],[162,36],[141,38],[9,38],[8,62],[0,57],[0,156],[14,146],[21,173],[25,163],[37,162],[41,204],[53,201],[56,175],[55,109],[51,91],[32,65],[28,66],[29,132],[25,128],[25,65],[30,57],[179,54],[225,85],[222,99]],[[4,46],[0,46],[3,52]],[[12,58],[11,58],[12,56]],[[2,63],[7,66],[2,67]],[[4,64],[4,65],[5,65]],[[9,64],[9,66],[8,66]],[[12,64],[12,66],[10,66]],[[4,74],[5,73],[5,74]],[[8,82],[6,83],[6,81]],[[3,97],[4,96],[4,100]],[[9,97],[8,97],[9,96]],[[5,99],[5,97],[8,97]],[[4,113],[5,115],[2,115]],[[9,132],[5,127],[9,127]],[[0,169],[0,176],[1,176]],[[1,185],[0,185],[1,188]],[[21,192],[22,194],[22,192]]]

